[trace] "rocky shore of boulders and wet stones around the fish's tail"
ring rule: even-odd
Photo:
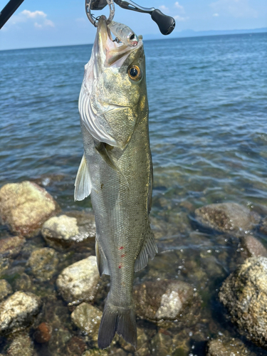
[[[109,278],[93,212],[61,211],[33,182],[1,187],[0,356],[267,355],[267,217],[236,203],[191,213],[172,224],[168,250],[152,216],[159,253],[135,278],[137,350],[118,336],[98,350]]]

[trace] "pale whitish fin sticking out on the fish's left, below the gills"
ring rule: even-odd
[[[80,162],[80,167],[75,179],[74,200],[83,200],[90,195],[92,184],[90,182],[90,173],[86,163],[85,155]]]

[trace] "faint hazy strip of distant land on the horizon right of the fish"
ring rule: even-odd
[[[184,38],[184,37],[199,37],[199,36],[220,36],[220,35],[237,35],[242,33],[264,33],[267,32],[267,27],[263,28],[253,28],[250,30],[221,30],[221,31],[194,31],[194,30],[183,30],[175,31],[172,35],[172,38]],[[145,35],[146,40],[154,40],[162,38],[161,35],[151,34]]]

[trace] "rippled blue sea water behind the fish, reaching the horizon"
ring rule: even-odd
[[[216,308],[221,308],[218,290],[236,268],[239,252],[238,241],[226,244],[196,229],[194,210],[236,202],[267,215],[266,45],[267,33],[145,41],[154,166],[151,216],[161,252],[148,268],[199,291],[203,320],[209,320],[202,323],[204,338],[224,328],[235,333],[216,317]],[[90,198],[73,201],[83,156],[78,95],[91,48],[0,52],[0,187],[33,180],[63,211],[91,207]],[[258,239],[267,246],[264,236]],[[201,264],[206,284],[178,268],[187,260],[201,263],[201,256],[214,261]],[[137,278],[146,278],[145,273]],[[194,340],[194,333],[188,334],[195,345],[192,355],[205,355],[204,339]]]

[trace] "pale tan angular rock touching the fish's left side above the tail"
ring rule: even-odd
[[[95,298],[99,280],[96,257],[89,256],[63,269],[56,285],[64,300],[79,304]]]

